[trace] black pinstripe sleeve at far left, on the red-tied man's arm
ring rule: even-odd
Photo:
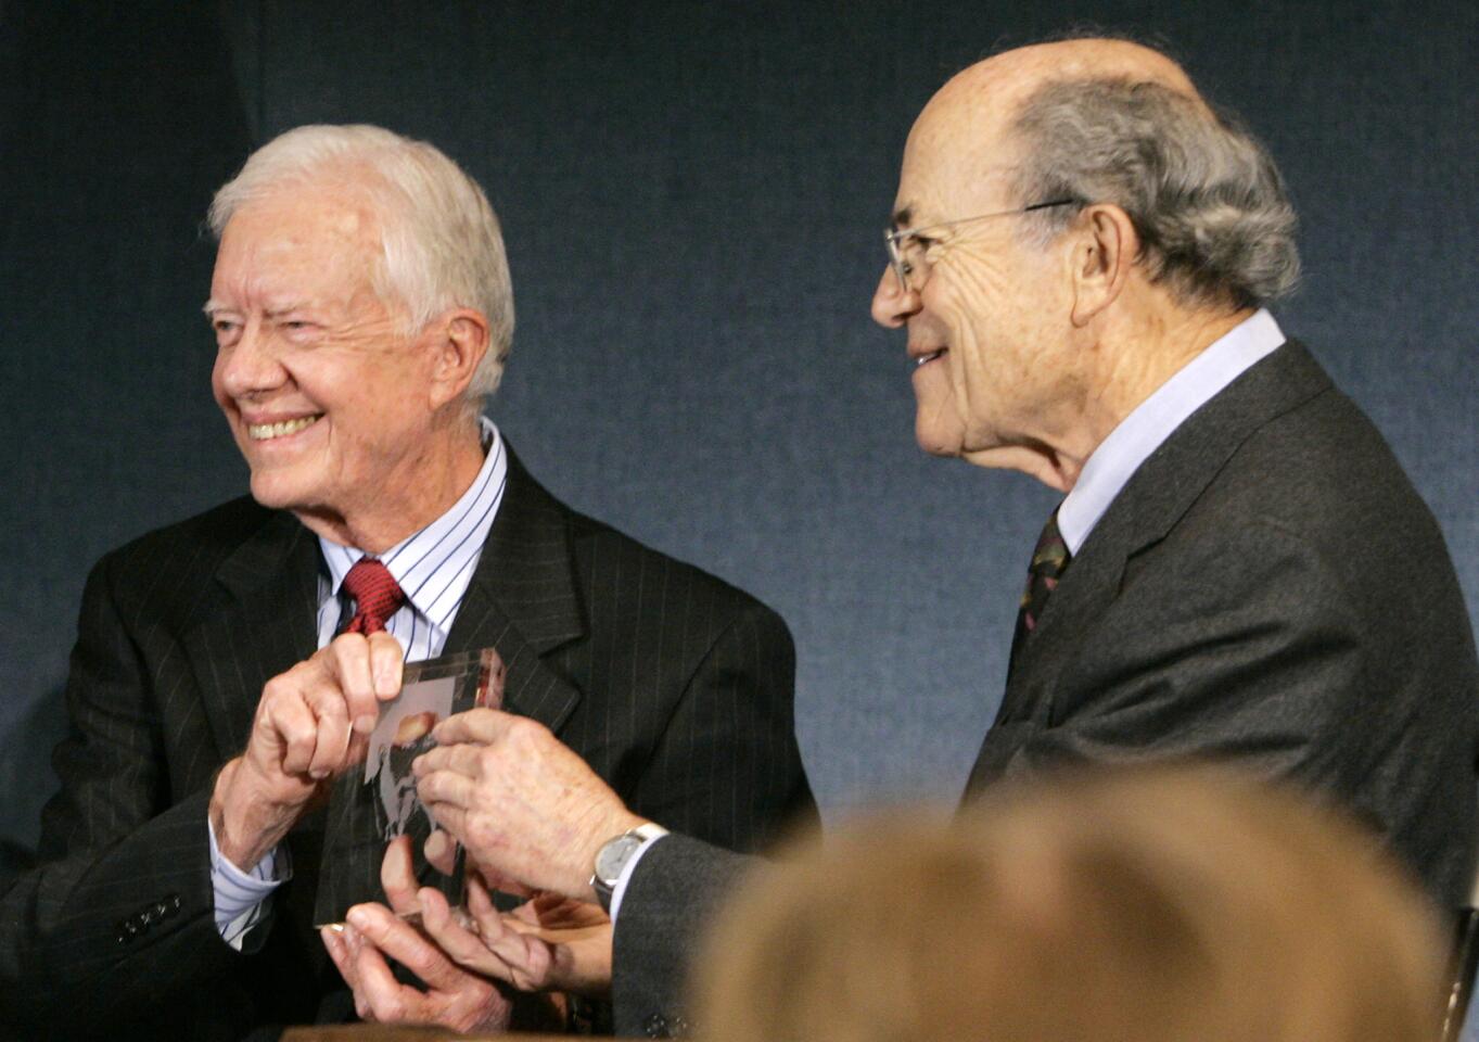
[[[213,919],[209,792],[170,792],[106,559],[83,595],[67,707],[41,864],[0,898],[0,1014],[50,1027],[127,1018],[240,958]]]

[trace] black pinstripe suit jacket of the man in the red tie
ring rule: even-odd
[[[509,468],[447,651],[497,647],[507,707],[643,816],[750,850],[815,814],[781,619]],[[109,1038],[275,1038],[266,1026],[314,1020],[342,989],[311,930],[321,869],[373,893],[380,845],[325,853],[322,817],[305,820],[294,876],[241,955],[216,932],[206,842],[214,773],[246,746],[262,685],[315,650],[318,568],[291,515],[241,499],[93,570],[44,864],[0,903],[6,1014]]]

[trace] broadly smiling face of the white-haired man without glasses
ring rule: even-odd
[[[362,194],[271,194],[222,232],[207,305],[211,388],[251,494],[342,542],[359,514],[419,512],[436,443],[433,345],[379,299],[379,243]]]

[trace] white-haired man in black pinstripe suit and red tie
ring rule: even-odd
[[[513,299],[456,163],[299,127],[210,225],[211,385],[251,496],[87,583],[43,863],[3,898],[4,1020],[234,1039],[352,1015],[312,928],[380,895],[383,842],[325,821],[405,662],[495,648],[512,712],[720,847],[815,814],[779,617],[559,503],[481,414]]]

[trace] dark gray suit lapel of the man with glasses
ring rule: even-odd
[[[1118,595],[1126,562],[1160,542],[1254,431],[1330,389],[1330,376],[1290,340],[1192,413],[1140,465],[1063,573],[1007,679],[998,722],[1047,724],[1052,690],[1074,647]]]

